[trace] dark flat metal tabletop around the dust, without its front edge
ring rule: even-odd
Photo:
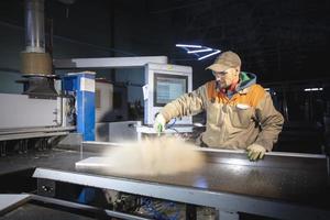
[[[266,155],[260,162],[250,162],[245,153],[204,152],[208,163],[199,169],[177,175],[129,176],[102,173],[88,163],[75,165],[81,160],[100,156],[96,152],[50,150],[0,158],[0,175],[31,167],[90,173],[210,191],[226,191],[261,198],[280,199],[317,206],[326,206],[329,195],[326,160],[318,156]],[[84,162],[84,161],[82,161]]]

